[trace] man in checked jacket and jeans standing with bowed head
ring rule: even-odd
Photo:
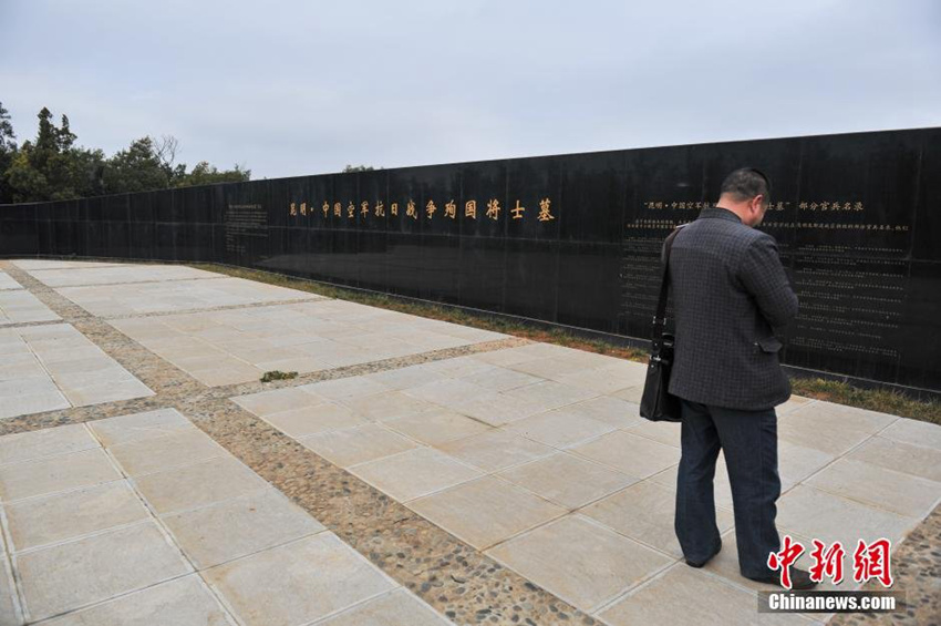
[[[713,476],[724,450],[735,510],[742,575],[777,583],[768,554],[780,550],[775,516],[780,495],[775,407],[790,397],[777,336],[797,315],[774,237],[756,230],[771,182],[736,170],[715,207],[681,228],[670,254],[676,318],[670,392],[682,404],[682,459],[675,530],[686,563],[702,567],[718,553]],[[792,567],[793,588],[814,586]]]

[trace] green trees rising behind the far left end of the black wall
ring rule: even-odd
[[[65,115],[58,126],[49,109],[43,106],[38,116],[35,140],[17,145],[10,114],[0,102],[0,204],[237,183],[251,177],[251,170],[244,166],[218,170],[206,161],[187,170],[185,163],[176,163],[179,144],[170,135],[135,140],[107,157],[102,150],[75,145]]]

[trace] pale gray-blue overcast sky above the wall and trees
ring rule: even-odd
[[[941,125],[938,0],[0,0],[18,140],[252,178]]]

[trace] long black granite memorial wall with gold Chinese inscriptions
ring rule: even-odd
[[[218,261],[647,338],[658,254],[723,177],[800,299],[784,362],[941,390],[941,129],[327,174],[0,206],[0,256]]]

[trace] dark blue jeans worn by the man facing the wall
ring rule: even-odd
[[[682,400],[682,411],[675,530],[684,556],[703,562],[718,550],[712,481],[722,449],[732,485],[738,568],[747,577],[769,575],[768,553],[780,550],[774,522],[780,495],[774,409],[737,411]]]

